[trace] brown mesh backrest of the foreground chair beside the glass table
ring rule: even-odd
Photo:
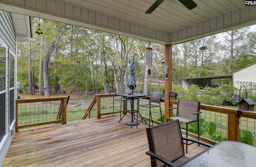
[[[149,150],[169,161],[184,155],[184,145],[178,120],[146,128]],[[164,163],[151,158],[153,166],[162,166]]]

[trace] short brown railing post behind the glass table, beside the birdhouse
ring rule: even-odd
[[[238,128],[236,114],[228,114],[228,140],[238,141]]]

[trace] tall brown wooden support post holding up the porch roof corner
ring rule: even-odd
[[[167,122],[167,118],[172,116],[172,111],[168,110],[168,108],[172,107],[170,103],[170,92],[172,92],[172,45],[165,45],[165,66],[168,67],[168,79],[165,80],[165,95],[164,95],[164,115],[165,120]]]

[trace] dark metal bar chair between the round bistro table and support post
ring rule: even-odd
[[[141,98],[146,98],[147,96],[149,96],[149,103],[148,104],[140,104],[139,103],[139,100]],[[151,114],[151,108],[154,108],[154,107],[159,107],[160,108],[160,114],[161,114],[161,120],[162,120],[162,123],[163,123],[163,118],[162,118],[162,112],[161,112],[161,106],[160,106],[160,103],[161,103],[161,97],[162,97],[162,92],[159,92],[159,91],[155,91],[155,92],[151,92],[150,94],[148,94],[147,96],[145,97],[140,97],[138,98],[138,103],[137,103],[137,121],[138,121],[138,113],[140,115],[140,107],[144,107],[144,108],[149,108],[149,121],[148,120],[145,120],[141,115],[139,119],[141,120],[144,120],[145,122],[148,121],[149,122],[149,127],[150,127],[150,117],[151,117],[151,120],[152,120],[152,125],[153,125],[153,119],[152,119],[152,114]],[[154,104],[153,104],[154,103]],[[147,123],[147,122],[146,122]]]

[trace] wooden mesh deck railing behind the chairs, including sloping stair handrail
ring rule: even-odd
[[[145,99],[148,102],[147,99]],[[176,106],[177,101],[171,101],[170,104]],[[120,105],[120,104],[117,104]],[[136,105],[136,104],[135,104]],[[164,99],[161,99],[162,114],[164,114]],[[240,132],[252,132],[253,145],[255,145],[254,133],[256,133],[256,112],[242,111],[240,120],[238,120],[236,109],[211,106],[206,104],[201,104],[200,114],[201,119],[201,138],[203,141],[208,143],[216,143],[220,140],[240,140]],[[144,118],[149,118],[146,111],[140,110]],[[154,122],[159,124],[159,111],[155,111]],[[172,111],[170,111],[172,114]],[[90,113],[90,114],[89,114]],[[115,112],[116,114],[117,112]],[[119,112],[118,112],[119,113]],[[94,98],[92,104],[84,114],[82,119],[90,118],[100,118],[101,116],[112,115],[113,114],[113,94],[98,94]],[[174,111],[175,114],[175,111]],[[214,132],[211,132],[214,131]],[[190,133],[190,136],[195,134]]]

